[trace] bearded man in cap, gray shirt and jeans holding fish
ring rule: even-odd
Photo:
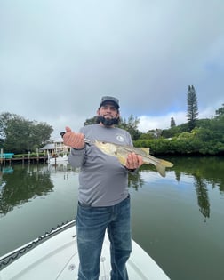
[[[84,126],[79,133],[66,127],[63,137],[64,144],[72,148],[69,163],[81,167],[76,217],[78,280],[99,279],[106,229],[111,244],[111,279],[127,280],[125,263],[132,251],[128,172],[134,172],[143,161],[132,153],[124,166],[115,156],[85,144],[84,138],[132,145],[131,135],[115,126],[119,123],[119,100],[103,97],[97,116],[98,124]]]

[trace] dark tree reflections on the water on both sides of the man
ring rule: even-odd
[[[220,195],[224,195],[224,158],[223,157],[173,157],[169,158],[174,167],[169,174],[172,180],[178,181],[186,178],[196,189],[199,211],[204,216],[204,221],[210,218],[211,205],[208,185],[219,188]],[[161,180],[165,184],[167,179],[160,178],[152,171],[151,166],[144,165],[135,175],[129,176],[129,187],[142,188],[146,183],[142,179],[143,172],[150,172],[150,182]],[[16,205],[24,204],[36,196],[46,196],[54,188],[51,174],[63,172],[64,180],[68,180],[69,172],[77,172],[69,164],[59,165],[15,165],[9,166],[0,172],[0,215],[5,215],[13,210]],[[173,176],[174,175],[174,176]],[[156,178],[156,179],[155,179]]]

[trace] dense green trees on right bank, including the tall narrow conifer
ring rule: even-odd
[[[187,122],[141,133],[134,141],[137,147],[149,147],[155,155],[224,155],[224,104],[212,118],[198,119],[196,90],[188,86]]]

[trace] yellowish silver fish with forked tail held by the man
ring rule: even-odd
[[[88,142],[87,140],[85,141]],[[108,156],[116,156],[118,161],[123,165],[126,164],[127,156],[130,153],[135,153],[136,155],[142,157],[144,164],[153,164],[154,166],[156,166],[157,172],[159,172],[162,177],[165,177],[165,168],[173,166],[171,162],[168,162],[164,159],[156,158],[155,156],[151,156],[149,154],[149,148],[137,148],[127,145],[118,145],[115,143],[104,142],[100,140],[94,140],[92,143],[104,154]]]

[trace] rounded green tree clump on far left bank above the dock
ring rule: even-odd
[[[0,115],[0,138],[7,152],[26,153],[36,151],[50,140],[52,126],[29,121],[22,116],[10,113]]]

